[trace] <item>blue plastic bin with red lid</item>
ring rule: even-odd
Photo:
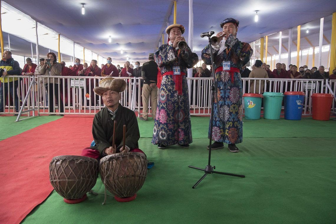
[[[286,120],[301,120],[304,92],[285,92],[284,106]]]

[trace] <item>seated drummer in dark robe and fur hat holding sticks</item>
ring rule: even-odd
[[[119,103],[121,92],[126,82],[112,77],[102,79],[99,87],[93,91],[100,95],[105,107],[93,119],[92,135],[95,146],[83,149],[82,155],[100,159],[118,152],[142,152],[138,149],[140,132],[134,112]],[[113,142],[113,125],[117,121],[115,145]],[[123,148],[123,126],[126,125],[125,148]]]

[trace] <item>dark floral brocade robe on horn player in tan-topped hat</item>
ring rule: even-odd
[[[186,73],[198,62],[198,56],[189,47],[176,50],[172,45],[163,44],[154,54],[161,74],[173,71],[180,66]],[[182,94],[175,90],[176,75],[162,77],[159,90],[158,109],[156,110],[152,143],[163,145],[189,144],[193,142],[190,122],[190,104],[185,75],[182,76]]]

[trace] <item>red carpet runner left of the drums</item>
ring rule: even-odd
[[[0,141],[0,223],[21,222],[48,197],[51,159],[90,146],[92,121],[64,117]]]

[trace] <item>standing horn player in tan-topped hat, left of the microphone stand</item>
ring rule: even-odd
[[[152,143],[160,149],[175,144],[188,148],[193,142],[185,75],[187,68],[193,68],[198,62],[198,56],[187,46],[182,37],[184,31],[180,24],[168,26],[166,33],[170,40],[154,54],[161,74],[157,76],[160,92]]]

